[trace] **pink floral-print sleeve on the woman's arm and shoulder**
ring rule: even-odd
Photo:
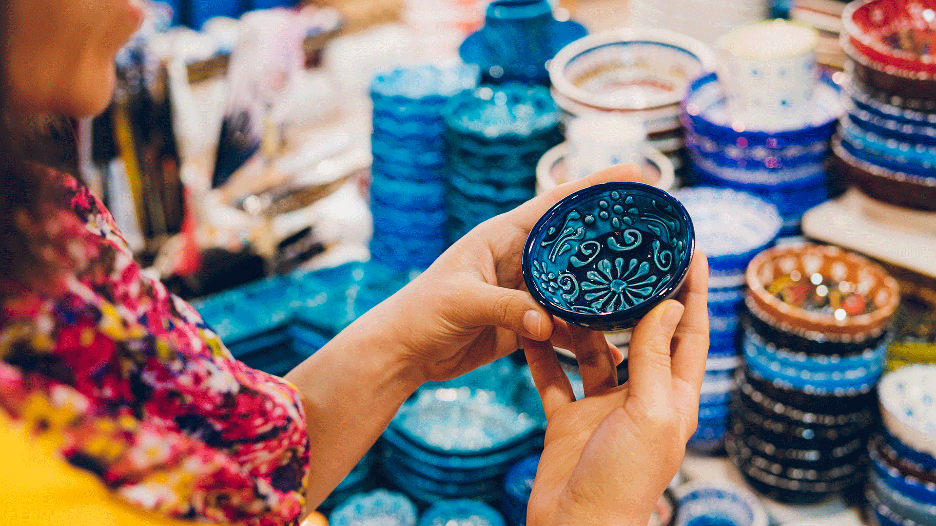
[[[64,185],[42,225],[73,269],[3,284],[0,407],[125,500],[175,519],[294,524],[309,442],[300,394],[248,368],[185,301],[140,272],[103,205]]]

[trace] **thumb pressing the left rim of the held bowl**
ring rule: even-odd
[[[552,316],[529,292],[478,283],[462,298],[461,321],[466,327],[492,325],[537,342],[552,335]]]

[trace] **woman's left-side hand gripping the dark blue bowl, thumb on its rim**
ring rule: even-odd
[[[454,378],[501,358],[519,349],[519,336],[571,348],[568,326],[526,290],[520,271],[523,245],[557,201],[610,181],[639,182],[640,168],[603,169],[476,226],[413,283],[365,314],[371,321],[360,325],[386,328],[388,342],[424,380]],[[615,363],[622,360],[612,345],[606,344],[601,354]]]

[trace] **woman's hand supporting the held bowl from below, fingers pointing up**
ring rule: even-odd
[[[551,343],[522,339],[548,418],[527,524],[647,525],[695,431],[708,281],[696,251],[680,301],[661,303],[634,329],[620,387],[604,334],[570,326],[585,387],[578,402]]]

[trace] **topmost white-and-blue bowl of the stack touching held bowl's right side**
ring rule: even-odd
[[[695,240],[709,258],[709,270],[746,269],[780,233],[777,207],[752,194],[701,187],[677,190],[673,197],[693,219]]]

